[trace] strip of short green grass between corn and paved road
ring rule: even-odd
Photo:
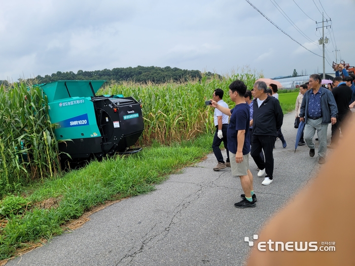
[[[212,135],[164,146],[153,143],[140,153],[104,158],[53,180],[24,188],[26,209],[0,217],[0,260],[46,242],[65,224],[93,207],[154,191],[169,174],[200,162],[211,152]],[[0,262],[1,264],[1,262]]]

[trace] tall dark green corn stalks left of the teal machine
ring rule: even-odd
[[[40,88],[0,86],[0,198],[30,180],[60,171],[58,149]]]

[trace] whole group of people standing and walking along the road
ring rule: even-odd
[[[343,77],[340,77],[341,71]],[[355,76],[354,76],[355,77]],[[304,132],[298,145],[307,145],[309,156],[315,156],[313,137],[317,133],[317,158],[319,164],[325,163],[327,148],[334,148],[343,134],[344,121],[355,105],[354,78],[342,65],[337,66],[333,83],[322,87],[319,74],[312,74],[306,84],[299,88],[295,104],[295,127],[304,122]],[[251,156],[258,167],[258,176],[265,175],[263,185],[273,182],[275,141],[279,138],[282,147],[287,143],[282,135],[283,113],[278,101],[277,86],[257,81],[252,90],[247,90],[242,81],[236,80],[229,86],[229,96],[235,103],[230,109],[222,100],[223,90],[216,89],[210,105],[215,108],[216,133],[212,148],[218,161],[214,171],[231,167],[233,176],[239,176],[244,194],[235,203],[237,208],[255,207],[257,202],[253,188],[253,175],[249,169]],[[346,123],[346,122],[345,122]],[[327,146],[328,125],[332,125],[331,143]],[[220,144],[227,151],[224,162]]]

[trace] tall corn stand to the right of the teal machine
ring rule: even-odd
[[[186,83],[113,83],[101,89],[98,94],[123,94],[141,99],[145,121],[141,144],[150,145],[153,140],[171,144],[213,132],[213,110],[205,106],[205,101],[212,98],[215,89],[221,88],[225,92],[223,100],[232,107],[228,86],[237,79],[251,90],[257,75],[246,69],[244,73],[232,74],[222,79],[202,74],[201,80]]]

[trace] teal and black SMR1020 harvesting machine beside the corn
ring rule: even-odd
[[[129,148],[144,130],[141,104],[133,97],[100,95],[105,81],[57,81],[39,85],[48,98],[59,150],[74,159],[101,158]],[[68,140],[70,139],[70,140]]]

